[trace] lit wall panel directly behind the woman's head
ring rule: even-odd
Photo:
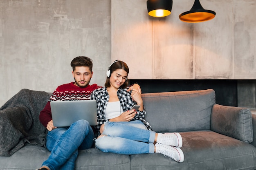
[[[129,79],[153,79],[153,21],[144,0],[111,0],[112,62],[129,66]]]

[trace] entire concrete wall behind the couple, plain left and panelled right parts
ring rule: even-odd
[[[173,0],[165,18],[148,16],[146,0],[0,0],[0,106],[22,88],[71,82],[79,55],[99,85],[116,59],[130,79],[256,79],[256,1],[200,2],[213,20],[180,21],[193,0]]]

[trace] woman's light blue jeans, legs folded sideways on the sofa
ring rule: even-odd
[[[139,120],[129,122],[106,122],[103,137],[95,145],[103,152],[132,155],[154,153],[155,132],[147,130]]]

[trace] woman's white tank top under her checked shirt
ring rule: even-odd
[[[118,102],[108,102],[108,105],[105,110],[106,119],[112,119],[118,117],[123,113],[124,110],[121,107],[120,101]]]

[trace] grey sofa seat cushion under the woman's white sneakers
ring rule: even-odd
[[[180,132],[184,162],[159,153],[131,155],[131,170],[254,170],[256,148],[211,130]]]

